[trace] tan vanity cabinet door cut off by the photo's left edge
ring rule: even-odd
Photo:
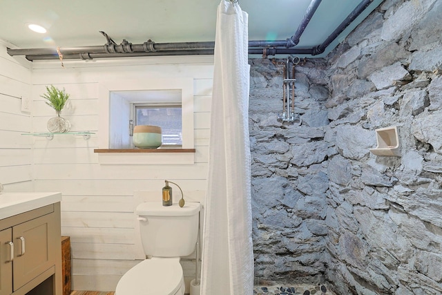
[[[0,231],[0,295],[12,293],[12,261],[14,245],[11,245],[12,229]]]

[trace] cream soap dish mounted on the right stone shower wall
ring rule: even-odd
[[[374,155],[390,155],[400,157],[401,151],[399,149],[399,137],[397,126],[390,126],[386,128],[376,129],[375,149],[370,149]]]

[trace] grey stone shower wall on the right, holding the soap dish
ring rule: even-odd
[[[442,294],[442,1],[384,1],[329,55],[327,279]],[[401,157],[369,153],[398,126]]]

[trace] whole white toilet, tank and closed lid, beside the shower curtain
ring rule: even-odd
[[[162,206],[144,202],[135,213],[140,222],[144,253],[150,257],[122,276],[115,295],[183,295],[184,276],[180,257],[195,250],[200,203]]]

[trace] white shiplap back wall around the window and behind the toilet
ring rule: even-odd
[[[38,61],[32,69],[32,131],[46,131],[55,115],[39,95],[45,86],[66,88],[70,104],[61,113],[71,131],[97,132],[99,84],[118,79],[192,77],[195,104],[195,164],[99,164],[100,134],[90,140],[58,135],[32,137],[35,191],[61,191],[62,234],[70,236],[73,289],[112,291],[135,260],[134,191],[157,191],[164,179],[180,184],[184,195],[204,198],[208,171],[213,57],[154,57],[97,61]],[[1,168],[0,168],[1,169]],[[176,189],[174,196],[179,196]],[[176,198],[176,197],[175,197]],[[185,276],[193,276],[185,267]],[[187,281],[191,277],[187,278]]]

